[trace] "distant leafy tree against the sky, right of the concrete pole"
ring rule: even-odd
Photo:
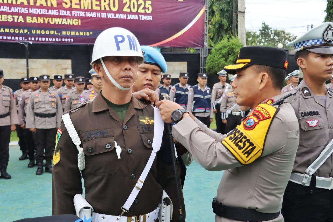
[[[282,43],[284,47],[288,42],[296,39],[289,32],[284,30],[272,29],[265,22],[262,22],[261,29],[258,32],[246,32],[246,45],[247,46],[270,46],[277,47],[277,44]],[[290,48],[292,49],[292,47]]]

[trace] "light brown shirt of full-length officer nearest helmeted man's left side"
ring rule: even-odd
[[[39,117],[36,113],[56,113],[54,117]],[[56,92],[48,90],[47,93],[37,90],[31,94],[27,106],[26,128],[52,129],[59,128],[63,114],[61,102]]]

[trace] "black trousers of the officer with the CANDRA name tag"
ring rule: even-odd
[[[333,190],[316,188],[315,181],[312,175],[310,186],[288,182],[282,202],[285,222],[333,222]]]

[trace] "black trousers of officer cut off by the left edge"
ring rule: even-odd
[[[10,125],[0,126],[0,169],[6,170],[9,161]]]

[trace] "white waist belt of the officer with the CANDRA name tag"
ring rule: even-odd
[[[311,176],[308,176],[308,180],[306,182],[303,182],[303,178],[308,175],[302,174],[302,173],[291,173],[290,175],[290,181],[301,184],[303,186],[310,186]],[[333,189],[333,178],[332,177],[316,177],[316,187],[322,188],[322,189]]]

